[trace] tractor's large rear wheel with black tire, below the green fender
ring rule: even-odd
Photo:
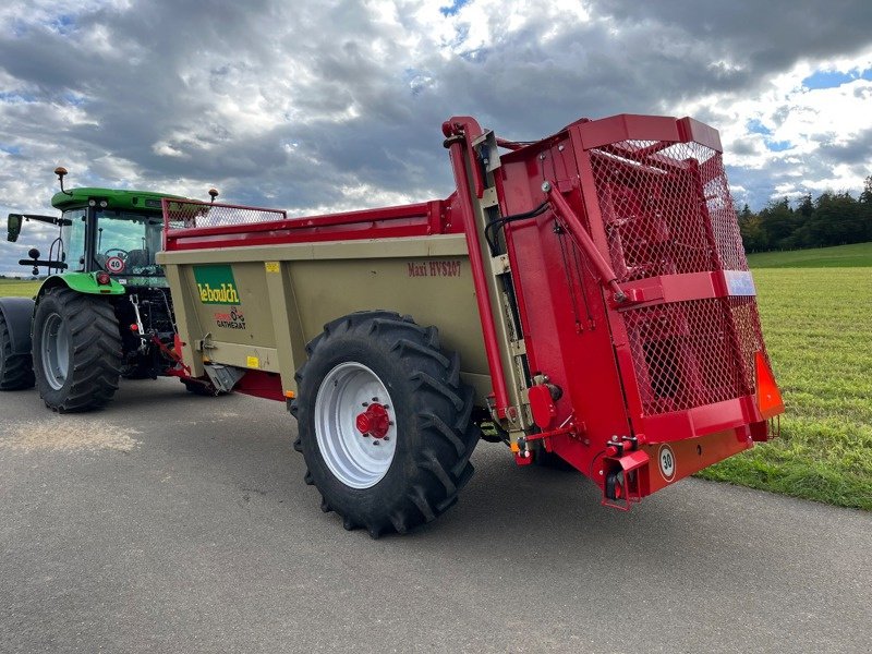
[[[104,407],[118,390],[121,336],[109,302],[68,288],[49,289],[34,315],[36,386],[61,413]]]

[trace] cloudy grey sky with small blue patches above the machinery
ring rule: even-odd
[[[445,197],[441,122],[534,140],[581,118],[718,129],[738,202],[862,190],[870,0],[7,0],[0,211],[69,185],[294,215]],[[8,262],[41,244],[28,223]]]

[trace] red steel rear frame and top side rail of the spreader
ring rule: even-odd
[[[476,140],[484,133],[474,119],[452,118],[443,131],[457,185],[445,201],[304,218],[275,213],[272,220],[234,223],[233,211],[249,207],[165,199],[165,246],[462,231],[495,412],[504,419],[510,398],[475,211],[491,184],[502,216],[548,205],[502,230],[528,368],[562,390],[552,400],[531,388],[538,426],[528,444],[541,441],[603,488],[607,479],[619,479],[620,494],[606,504],[627,507],[768,437],[767,420],[784,408],[760,335],[715,130],[665,117],[581,120],[528,145],[497,140],[512,152],[491,175],[479,159]],[[181,227],[192,208],[213,213],[218,225]],[[650,269],[628,264],[640,252]],[[761,379],[776,395],[763,409]],[[241,384],[243,392],[282,397],[270,379],[251,382]],[[712,397],[722,399],[706,400]]]

